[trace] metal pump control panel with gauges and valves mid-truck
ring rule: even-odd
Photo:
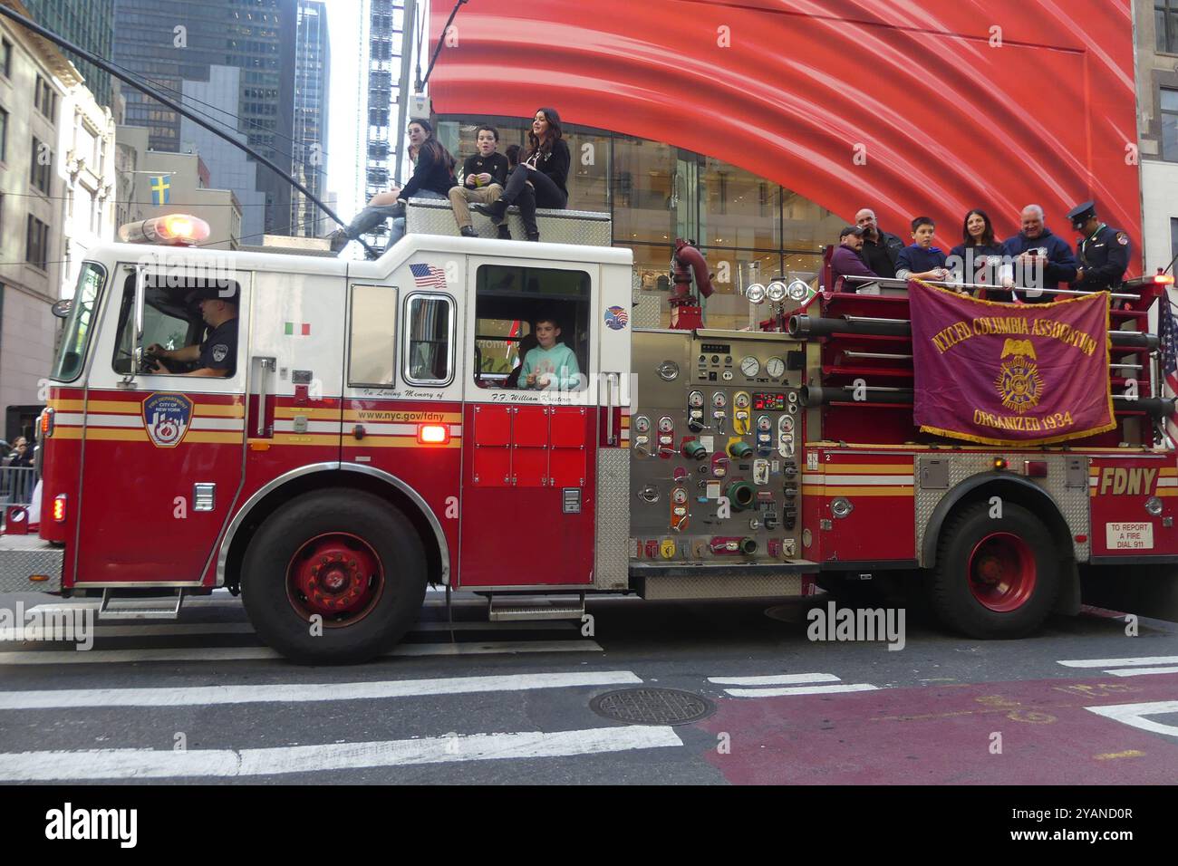
[[[630,556],[800,558],[802,345],[781,333],[635,331]]]

